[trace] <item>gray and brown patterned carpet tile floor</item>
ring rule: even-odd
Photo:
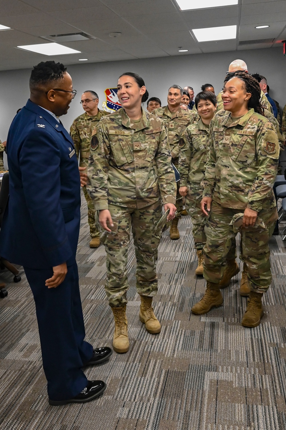
[[[285,225],[285,224],[284,224]],[[281,230],[284,227],[281,224]],[[277,430],[286,428],[286,249],[271,239],[273,281],[255,329],[240,325],[246,298],[241,273],[222,290],[224,304],[191,314],[205,289],[197,265],[190,217],[179,222],[181,238],[163,233],[154,308],[162,323],[150,335],[138,318],[135,255],[129,247],[130,349],[86,369],[103,379],[103,396],[84,405],[49,406],[41,363],[34,300],[25,274],[12,282],[0,272],[8,296],[0,299],[0,428],[2,430]],[[239,244],[237,239],[237,245]],[[238,249],[238,247],[237,247]],[[240,269],[242,263],[238,260]],[[112,345],[114,323],[104,291],[105,250],[89,248],[86,204],[77,252],[86,340]]]

